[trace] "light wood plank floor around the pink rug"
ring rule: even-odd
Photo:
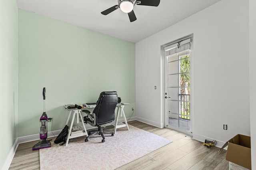
[[[202,142],[168,128],[157,128],[139,121],[128,124],[167,138],[172,143],[117,170],[228,170],[226,150],[218,153],[219,148],[207,148]],[[52,139],[51,142],[55,138]],[[40,170],[39,150],[32,151],[32,146],[38,141],[19,144],[9,170]]]

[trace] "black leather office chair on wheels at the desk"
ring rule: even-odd
[[[89,123],[92,126],[98,127],[98,130],[91,130],[88,132],[88,136],[84,140],[85,142],[88,142],[88,138],[96,133],[102,136],[102,142],[105,142],[103,132],[109,132],[111,133],[111,136],[114,136],[113,131],[103,130],[100,125],[104,125],[115,120],[117,101],[118,97],[116,91],[102,92],[100,93],[100,97],[96,102],[96,107],[94,108],[92,114],[90,114],[90,111],[88,110],[82,111],[86,113],[84,123]]]

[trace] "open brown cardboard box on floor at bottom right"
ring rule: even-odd
[[[226,160],[244,168],[252,169],[250,136],[237,134],[228,140],[226,144],[228,144]]]

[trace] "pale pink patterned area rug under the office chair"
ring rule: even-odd
[[[40,149],[41,170],[114,170],[150,152],[157,150],[170,140],[129,125],[118,128],[116,134],[72,138],[68,146],[52,143],[50,148]]]

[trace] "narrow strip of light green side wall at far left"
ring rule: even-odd
[[[0,0],[0,169],[17,138],[18,8],[15,0]]]

